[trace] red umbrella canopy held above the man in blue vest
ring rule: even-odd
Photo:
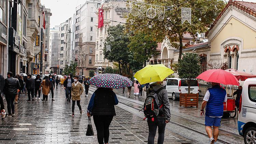
[[[207,82],[239,86],[239,82],[234,75],[221,69],[207,70],[201,73],[200,75],[198,75],[196,78],[207,81]]]

